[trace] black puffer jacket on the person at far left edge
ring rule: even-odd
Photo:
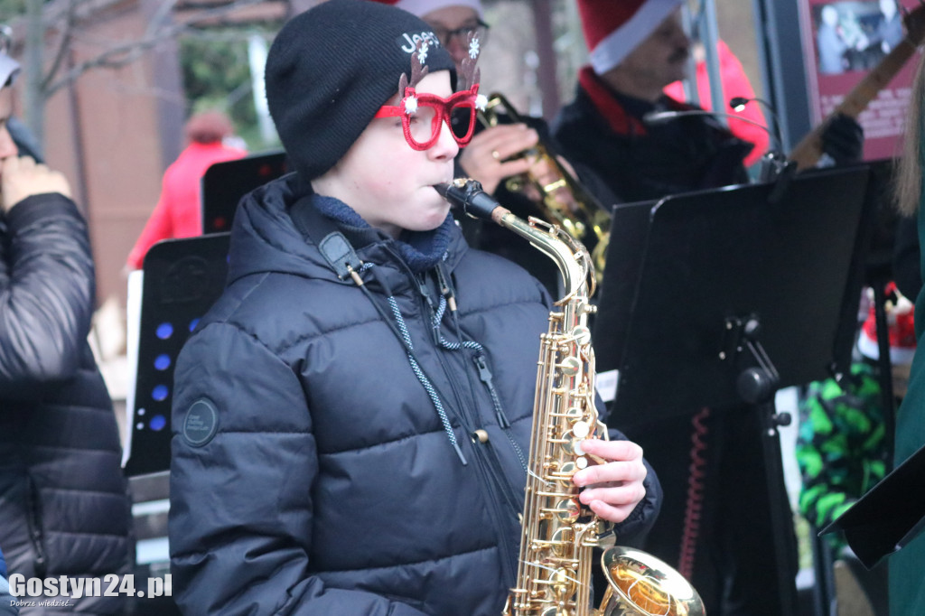
[[[116,416],[87,344],[93,292],[74,203],[36,195],[0,221],[0,546],[11,574],[100,576],[134,562]],[[120,600],[72,602],[117,613]]]

